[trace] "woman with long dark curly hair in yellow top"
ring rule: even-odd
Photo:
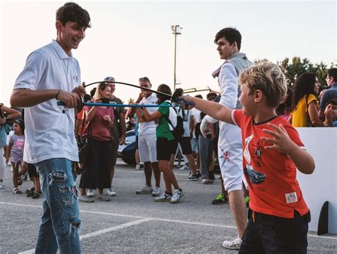
[[[319,80],[314,73],[302,73],[292,87],[291,118],[294,127],[322,126],[319,119],[317,95]]]

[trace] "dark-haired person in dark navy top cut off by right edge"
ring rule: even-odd
[[[328,89],[324,92],[319,105],[319,118],[324,119],[324,110],[326,102],[334,99],[337,100],[337,68],[331,68],[326,75],[326,84]]]

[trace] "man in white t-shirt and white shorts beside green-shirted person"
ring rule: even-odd
[[[151,88],[151,82],[149,78],[139,78],[139,85],[143,88]],[[141,89],[139,97],[136,101],[137,104],[152,105],[156,104],[158,98],[154,92]],[[156,112],[156,107],[149,107],[147,111],[149,114]],[[138,129],[138,147],[139,147],[139,159],[144,163],[144,174],[146,184],[143,188],[136,191],[137,194],[152,194],[152,196],[159,196],[160,194],[160,174],[158,161],[157,161],[157,151],[156,151],[156,123],[154,121],[146,122],[144,118],[144,113],[141,108],[133,108],[131,114],[136,112],[139,129]],[[151,169],[152,168],[152,169]],[[152,170],[154,171],[154,179],[156,181],[156,186],[152,188],[151,177]]]

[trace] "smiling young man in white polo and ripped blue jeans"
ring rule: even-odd
[[[80,253],[80,212],[70,162],[78,161],[74,108],[85,89],[72,49],[85,38],[90,16],[67,3],[56,12],[55,26],[56,40],[28,55],[11,105],[26,107],[23,160],[40,173],[44,199],[36,253]],[[58,100],[65,106],[58,106]]]

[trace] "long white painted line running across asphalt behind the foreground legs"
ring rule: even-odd
[[[23,203],[9,203],[9,202],[1,202],[0,201],[0,204],[42,208],[42,206],[26,205],[26,204],[23,204]],[[80,210],[80,213],[92,213],[92,214],[99,214],[99,215],[124,217],[124,218],[139,218],[140,220],[141,219],[149,219],[150,221],[165,221],[165,222],[183,223],[183,224],[196,225],[196,226],[211,226],[211,227],[232,228],[232,229],[236,228],[235,226],[218,225],[218,224],[211,224],[211,223],[199,223],[199,222],[193,222],[193,221],[178,221],[178,220],[171,220],[171,219],[166,219],[166,218],[151,218],[151,217],[132,216],[132,215],[127,215],[127,214],[119,214],[119,213],[105,213],[105,212],[99,212],[99,211]],[[312,238],[337,240],[336,236],[317,236],[314,233],[308,233],[308,236],[312,237]]]

